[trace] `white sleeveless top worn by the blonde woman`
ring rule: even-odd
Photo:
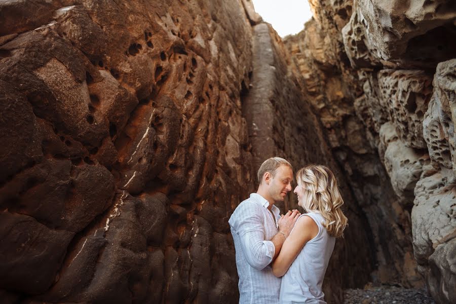
[[[334,249],[335,238],[326,231],[322,224],[324,218],[320,213],[301,214],[298,220],[302,216],[310,216],[317,223],[318,234],[302,247],[282,277],[279,303],[326,304],[321,285]]]

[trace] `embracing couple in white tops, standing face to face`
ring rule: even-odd
[[[274,157],[258,170],[258,191],[243,201],[229,223],[236,248],[239,303],[326,303],[321,286],[347,218],[334,174],[310,165],[296,173],[297,210],[280,215],[275,203],[291,191],[289,162]]]

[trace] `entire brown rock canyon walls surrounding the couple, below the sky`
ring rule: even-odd
[[[284,39],[250,0],[0,2],[3,302],[236,303],[227,221],[280,156],[341,187],[328,303],[456,303],[456,5],[309,2]]]

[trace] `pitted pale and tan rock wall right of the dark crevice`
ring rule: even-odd
[[[374,234],[381,282],[456,300],[452,1],[310,1],[294,69]]]

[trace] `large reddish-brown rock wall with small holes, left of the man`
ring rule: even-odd
[[[1,297],[235,302],[227,220],[255,178],[242,3],[9,1],[0,15]]]

